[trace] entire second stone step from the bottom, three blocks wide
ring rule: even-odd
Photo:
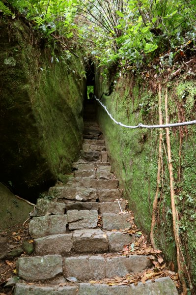
[[[19,258],[17,272],[20,278],[27,281],[52,279],[62,272],[64,277],[87,281],[123,277],[127,273],[137,273],[151,266],[150,260],[144,255],[85,255],[66,258],[60,255],[45,255]]]

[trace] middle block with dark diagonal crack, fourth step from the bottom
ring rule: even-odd
[[[67,211],[69,230],[96,228],[98,222],[97,210]]]

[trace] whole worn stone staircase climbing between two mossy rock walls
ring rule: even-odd
[[[89,110],[91,106],[89,107]],[[90,112],[90,119],[93,114]],[[20,283],[14,295],[177,295],[169,277],[127,286],[91,283],[151,267],[148,256],[123,256],[134,235],[127,202],[112,173],[99,126],[84,121],[84,144],[73,164],[74,177],[49,189],[53,202],[39,199],[29,223],[35,255],[17,261]],[[119,200],[119,201],[117,201]],[[120,205],[120,206],[119,206]]]

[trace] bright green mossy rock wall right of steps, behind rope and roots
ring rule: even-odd
[[[164,89],[168,87],[170,122],[178,122],[179,119],[194,120],[195,80],[187,80],[185,74],[174,80],[161,77],[160,82],[163,114]],[[109,95],[109,88],[97,71],[95,92],[117,121],[127,125],[138,125],[140,122],[151,125],[159,123],[158,83],[153,77],[121,75],[116,79],[114,90]],[[116,125],[100,106],[98,120],[111,155],[113,169],[120,186],[124,188],[124,197],[129,200],[137,225],[149,234],[157,187],[159,129],[123,128]],[[167,149],[165,130],[163,133]],[[182,249],[192,280],[196,284],[196,126],[170,129],[170,139]],[[163,250],[168,262],[176,265],[168,165],[164,148],[162,157],[163,188],[159,195],[158,225],[154,234],[158,248]]]

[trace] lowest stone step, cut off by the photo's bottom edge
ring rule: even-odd
[[[137,286],[109,286],[107,284],[80,283],[63,287],[41,287],[17,283],[14,295],[178,295],[169,277],[138,283]]]

